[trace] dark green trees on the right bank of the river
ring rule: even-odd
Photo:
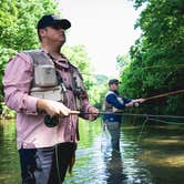
[[[135,25],[143,33],[131,48],[131,64],[121,75],[121,91],[131,98],[184,89],[184,3],[182,0],[135,0],[134,6],[139,8],[144,2],[146,8]],[[184,94],[181,94],[147,105],[155,113],[183,114],[183,101]],[[150,112],[146,105],[144,112]]]

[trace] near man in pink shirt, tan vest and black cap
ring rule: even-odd
[[[71,113],[98,117],[79,70],[60,51],[70,27],[67,19],[43,16],[38,22],[41,49],[18,53],[6,68],[6,104],[17,112],[23,184],[61,184],[79,140],[78,115]]]

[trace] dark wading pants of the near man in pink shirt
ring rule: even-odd
[[[22,184],[61,184],[76,145],[61,143],[52,147],[19,150]]]

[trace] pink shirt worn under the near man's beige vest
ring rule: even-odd
[[[57,61],[63,67],[67,63]],[[60,71],[64,82],[71,83],[70,71]],[[44,115],[37,111],[37,98],[29,95],[33,80],[33,62],[30,55],[19,53],[7,64],[3,85],[6,104],[17,112],[17,143],[18,150],[53,146],[63,142],[76,142],[78,115],[60,117],[59,125],[48,127],[43,123]],[[74,110],[74,94],[68,90],[69,106]],[[88,112],[90,108],[88,98],[82,101],[82,109]],[[88,119],[88,116],[83,116]]]

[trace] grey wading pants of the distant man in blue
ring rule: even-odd
[[[108,131],[111,134],[112,149],[120,150],[120,122],[105,122]]]

